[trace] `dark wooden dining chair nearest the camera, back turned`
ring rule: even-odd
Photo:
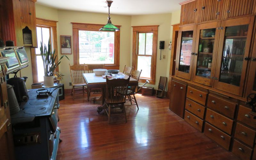
[[[126,102],[126,94],[130,76],[128,79],[106,79],[106,98],[104,103],[105,113],[108,115],[108,123],[110,116],[124,115],[127,122],[124,103]]]

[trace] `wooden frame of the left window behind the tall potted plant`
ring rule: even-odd
[[[55,61],[58,61],[58,41],[57,41],[57,22],[55,20],[46,20],[41,18],[36,18],[36,26],[50,28],[51,32],[51,42],[52,48],[55,49],[55,55],[57,58]],[[40,46],[37,46],[40,48]],[[31,48],[31,63],[32,63],[32,75],[33,75],[33,83],[39,83],[37,79],[37,65],[36,65],[36,49]],[[59,67],[56,68],[56,71],[59,71]]]

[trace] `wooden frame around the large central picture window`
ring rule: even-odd
[[[79,64],[79,30],[86,31],[99,31],[103,24],[90,24],[90,23],[72,23],[73,28],[73,53],[74,53],[74,64]],[[116,25],[117,28],[121,26]],[[104,31],[101,31],[104,32]],[[114,64],[105,64],[105,69],[119,69],[120,60],[120,31],[115,33],[115,43],[114,43]]]

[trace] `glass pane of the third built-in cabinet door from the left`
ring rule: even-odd
[[[248,25],[226,27],[220,82],[240,86]]]

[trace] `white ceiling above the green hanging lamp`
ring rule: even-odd
[[[110,14],[141,15],[171,13],[184,0],[113,0]],[[108,13],[105,0],[37,0],[36,3],[61,10]]]

